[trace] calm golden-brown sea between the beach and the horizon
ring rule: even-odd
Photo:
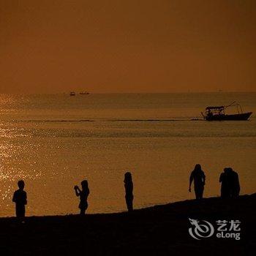
[[[256,93],[0,94],[0,216],[26,182],[28,215],[75,214],[73,187],[88,179],[89,213],[124,211],[124,172],[135,208],[194,197],[188,177],[206,173],[205,195],[219,195],[219,174],[233,167],[241,193],[255,192],[256,118],[191,121],[207,105],[236,100],[256,113]]]

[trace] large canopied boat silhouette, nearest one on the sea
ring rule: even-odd
[[[237,113],[226,114],[225,110],[229,107],[236,106]],[[205,114],[202,113],[203,118],[206,121],[245,121],[252,115],[252,112],[243,113],[241,105],[236,102],[232,102],[227,106],[207,107]]]

